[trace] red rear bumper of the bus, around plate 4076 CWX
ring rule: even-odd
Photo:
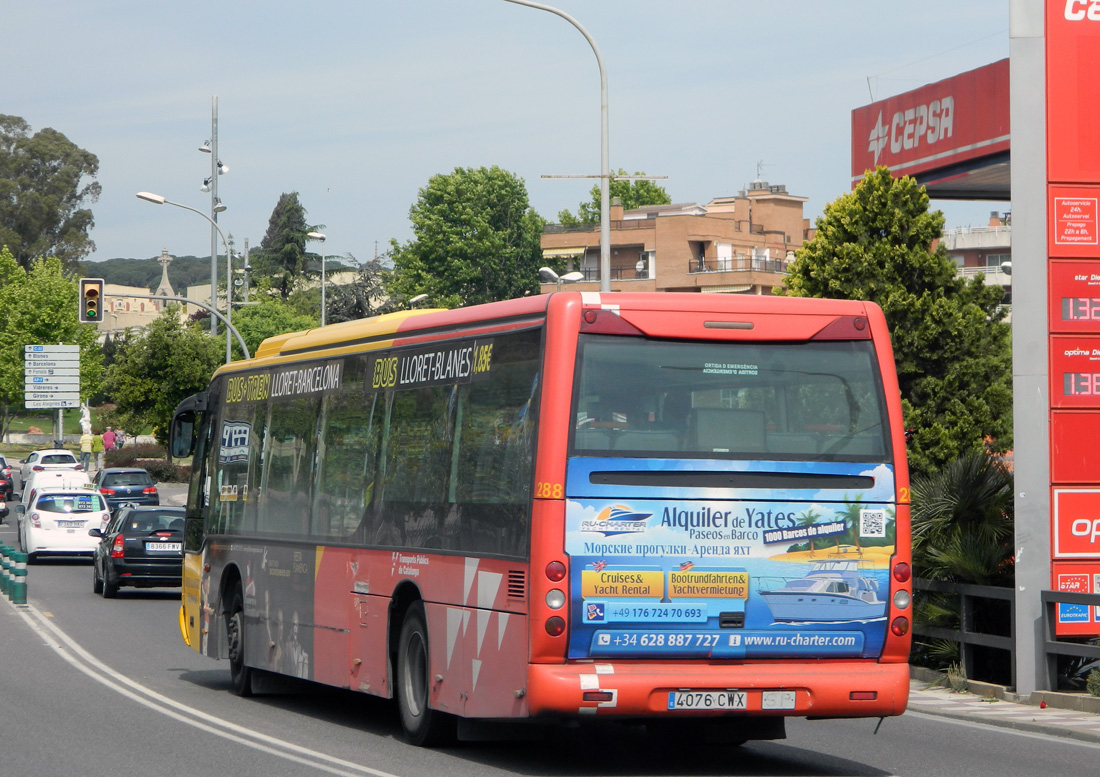
[[[727,690],[744,696],[703,696]],[[736,698],[736,707],[670,709],[678,691],[723,703]],[[909,665],[532,664],[526,701],[532,715],[878,718],[905,711]]]

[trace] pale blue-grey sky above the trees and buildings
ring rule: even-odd
[[[849,190],[850,113],[1009,55],[1004,0],[551,0],[607,72],[610,168],[705,204],[757,177],[815,219]],[[566,20],[506,0],[0,0],[0,113],[99,158],[91,261],[260,244],[297,191],[329,256],[413,238],[431,176],[497,165],[556,221],[600,173],[600,73]],[[1008,203],[934,200],[947,227]],[[315,249],[319,250],[319,249]],[[219,251],[221,247],[219,245]]]

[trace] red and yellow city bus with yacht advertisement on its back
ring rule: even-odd
[[[275,672],[395,698],[416,744],[905,710],[873,304],[559,292],[339,324],[219,369],[172,446],[194,456],[180,628],[238,693]]]

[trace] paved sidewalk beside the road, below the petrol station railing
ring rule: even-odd
[[[1025,703],[999,686],[970,682],[970,691],[957,693],[944,686],[938,672],[913,668],[909,709],[930,715],[987,723],[1100,744],[1100,714],[1074,707],[1100,709],[1100,699],[1079,693],[1036,692],[1046,702]]]

